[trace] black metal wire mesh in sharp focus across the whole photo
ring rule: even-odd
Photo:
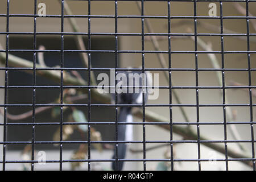
[[[66,0],[67,1],[67,0]],[[1,49],[0,52],[5,52],[6,55],[6,62],[5,67],[0,68],[0,70],[5,71],[5,85],[0,85],[0,89],[5,90],[5,98],[4,98],[4,104],[1,104],[0,107],[3,107],[3,123],[0,123],[0,126],[3,126],[3,141],[0,141],[0,144],[3,145],[3,157],[2,160],[0,160],[0,163],[2,163],[3,170],[6,170],[6,164],[7,163],[30,163],[31,164],[31,170],[35,169],[35,163],[38,163],[39,161],[35,159],[35,146],[38,144],[60,144],[59,148],[59,160],[46,160],[46,163],[59,163],[59,169],[63,169],[63,163],[72,163],[72,162],[85,162],[88,163],[88,170],[91,170],[91,163],[92,162],[115,162],[115,168],[118,169],[118,162],[142,162],[143,163],[143,169],[147,169],[147,162],[170,162],[171,163],[171,170],[175,169],[175,162],[196,162],[198,163],[198,169],[201,170],[201,162],[207,162],[210,159],[201,159],[201,144],[205,143],[220,143],[225,145],[225,158],[224,159],[214,159],[217,162],[225,162],[225,168],[226,170],[229,169],[229,162],[252,162],[253,170],[255,171],[255,139],[254,139],[254,125],[256,122],[253,118],[253,109],[256,106],[256,104],[253,103],[253,90],[256,89],[256,86],[252,84],[253,81],[253,72],[256,71],[256,68],[251,68],[251,54],[255,54],[256,51],[250,48],[250,40],[252,38],[255,38],[256,34],[250,33],[250,20],[255,20],[256,16],[249,16],[249,4],[255,3],[255,0],[246,0],[246,1],[236,1],[236,0],[223,0],[223,1],[205,1],[205,0],[168,0],[165,1],[167,3],[167,12],[168,15],[144,15],[144,9],[145,4],[148,2],[148,0],[141,0],[141,7],[142,12],[141,15],[118,15],[118,2],[126,1],[126,0],[112,0],[114,2],[114,15],[92,15],[91,9],[92,9],[92,2],[97,0],[79,0],[79,1],[88,1],[88,15],[64,15],[64,0],[61,0],[61,15],[46,15],[46,18],[60,18],[61,19],[61,28],[60,31],[56,32],[38,32],[36,30],[37,22],[36,19],[39,17],[37,15],[37,5],[38,1],[34,0],[34,14],[10,14],[10,1],[7,0],[6,4],[6,14],[0,14],[0,17],[6,18],[6,31],[0,32],[0,35],[6,36],[6,48]],[[111,1],[111,0],[110,0]],[[128,1],[128,0],[127,0]],[[133,1],[133,0],[129,0]],[[156,1],[156,0],[155,0]],[[72,3],[72,1],[70,1]],[[172,16],[171,12],[171,6],[172,2],[190,2],[193,3],[193,15],[192,16]],[[210,17],[210,16],[199,16],[197,15],[197,5],[199,5],[200,2],[218,2],[220,3],[220,16]],[[224,10],[223,10],[223,2],[242,2],[246,5],[246,16],[224,16]],[[31,32],[20,32],[20,31],[10,31],[10,17],[31,17],[34,19],[34,30]],[[88,32],[65,32],[64,31],[64,20],[65,18],[88,18]],[[98,18],[98,19],[104,19],[104,18],[110,18],[115,21],[114,24],[114,32],[92,32],[91,27],[91,19],[92,18]],[[118,32],[118,19],[140,19],[142,29],[139,33],[121,33]],[[161,20],[167,20],[168,21],[168,32],[167,33],[147,33],[146,29],[144,27],[144,21],[146,19],[161,19]],[[193,33],[174,33],[172,31],[171,27],[171,21],[177,20],[177,19],[188,19],[193,20],[194,24],[194,32]],[[199,33],[197,32],[197,20],[220,20],[220,33]],[[236,19],[242,19],[246,20],[246,33],[242,34],[224,34],[224,26],[223,22],[224,20],[236,20]],[[9,36],[10,35],[31,35],[33,37],[33,48],[32,49],[14,49],[9,48]],[[61,48],[60,49],[51,49],[51,50],[39,50],[36,48],[36,36],[37,35],[56,35],[60,36],[61,38]],[[64,49],[64,35],[81,35],[81,36],[87,36],[88,37],[88,49],[86,50],[76,50],[76,49]],[[112,37],[115,40],[115,47],[113,50],[106,50],[106,49],[96,49],[92,50],[92,37],[93,36],[109,36]],[[142,41],[142,47],[141,50],[119,50],[118,49],[118,36],[138,36],[141,37]],[[162,51],[148,51],[145,49],[145,38],[146,36],[166,36],[168,38],[168,49],[162,50]],[[193,36],[195,38],[195,50],[189,50],[189,51],[174,51],[172,49],[172,36]],[[198,42],[197,39],[200,37],[207,37],[207,36],[214,36],[221,39],[221,50],[220,51],[199,51],[198,48]],[[224,38],[232,38],[241,36],[243,38],[247,39],[247,50],[246,51],[226,51],[224,47]],[[17,53],[17,52],[24,52],[24,53],[32,53],[33,59],[32,59],[32,66],[30,68],[22,68],[22,67],[15,67],[11,68],[9,67],[9,52],[11,53]],[[44,53],[60,53],[60,68],[38,68],[36,64],[36,56],[37,53],[44,52]],[[64,53],[81,53],[86,52],[88,53],[88,68],[65,68],[64,67]],[[118,71],[142,71],[142,73],[146,71],[159,71],[164,72],[168,71],[168,77],[169,82],[167,86],[156,86],[153,88],[158,89],[168,89],[169,92],[169,103],[168,104],[146,104],[144,93],[143,93],[143,102],[142,104],[118,104],[118,94],[115,92],[115,103],[114,104],[92,104],[92,97],[91,97],[91,89],[96,89],[97,85],[93,85],[90,81],[91,73],[92,71],[110,71],[112,68],[92,68],[92,53],[113,53],[115,56],[115,76],[117,75]],[[141,65],[142,68],[119,68],[118,67],[118,61],[119,61],[119,54],[121,53],[136,53],[140,54],[142,56]],[[145,66],[145,55],[146,54],[155,54],[155,53],[163,53],[168,55],[168,68],[146,68]],[[216,55],[221,56],[221,68],[220,69],[213,69],[213,68],[199,68],[199,61],[198,56],[199,54],[205,54],[205,53],[214,53]],[[248,68],[225,68],[225,54],[246,54],[247,55],[247,64]],[[195,55],[195,68],[173,68],[172,67],[172,54],[193,54]],[[9,85],[9,78],[8,74],[9,71],[31,71],[32,72],[32,85]],[[36,72],[37,71],[60,71],[60,85],[53,85],[53,86],[38,86],[36,85]],[[88,72],[88,83],[86,85],[65,85],[64,80],[64,71],[87,71]],[[196,76],[196,84],[195,86],[172,86],[172,80],[173,72],[192,72],[195,73]],[[222,86],[199,86],[199,72],[221,72],[222,75]],[[244,86],[225,86],[225,73],[227,72],[246,72],[248,73],[248,84]],[[117,80],[115,80],[114,86],[105,86],[106,88],[115,88],[117,85]],[[129,87],[129,86],[127,86]],[[145,89],[147,87],[144,86],[133,86],[134,88],[142,88]],[[8,102],[8,90],[9,89],[26,89],[30,88],[32,89],[32,103],[31,104],[9,104]],[[63,92],[64,89],[87,89],[88,90],[88,102],[84,104],[64,104],[64,98],[63,98]],[[58,89],[60,90],[60,102],[56,104],[36,104],[36,89]],[[172,90],[180,90],[180,89],[188,89],[188,90],[196,90],[196,104],[174,104],[172,101]],[[199,90],[200,89],[214,89],[214,90],[221,90],[222,91],[222,103],[221,104],[200,104],[199,102]],[[226,103],[226,90],[227,89],[248,89],[249,91],[249,103],[245,104],[227,104]],[[227,121],[226,118],[226,108],[227,107],[245,107],[250,109],[250,121]],[[30,107],[32,109],[32,121],[30,119],[27,119],[27,121],[23,122],[7,122],[8,119],[8,113],[7,110],[9,107]],[[43,122],[43,121],[36,121],[36,113],[35,110],[37,107],[60,107],[60,120],[59,121],[52,121],[52,122]],[[64,116],[63,116],[63,108],[64,107],[86,107],[88,108],[88,122],[64,122]],[[92,107],[114,107],[115,108],[115,119],[113,121],[109,122],[101,122],[101,121],[93,121],[92,122]],[[119,122],[118,121],[118,107],[139,107],[142,108],[142,122],[139,121],[133,121],[131,123],[126,122]],[[146,122],[146,108],[147,107],[168,107],[170,118],[166,122]],[[190,122],[183,122],[183,121],[174,121],[173,118],[173,112],[174,107],[191,107],[196,109],[196,120],[190,121]],[[202,119],[200,119],[200,108],[201,107],[221,107],[223,110],[223,121],[211,121],[211,122],[204,122]],[[60,126],[60,141],[40,141],[35,140],[35,126]],[[88,140],[76,140],[76,141],[70,141],[70,140],[63,140],[63,126],[65,125],[88,125]],[[114,141],[104,140],[104,141],[92,141],[91,140],[91,125],[112,125],[115,126],[115,133]],[[142,140],[138,141],[119,141],[118,140],[118,125],[139,125],[142,126]],[[146,126],[153,126],[153,125],[163,125],[163,126],[170,126],[170,140],[147,140],[146,135],[148,133],[146,132]],[[183,140],[174,140],[174,127],[176,125],[181,126],[196,126],[197,127],[197,139],[189,140],[189,139],[183,139]],[[202,140],[200,138],[200,126],[224,126],[224,140]],[[250,126],[251,130],[251,136],[250,139],[246,140],[228,140],[227,138],[227,126],[228,125],[248,125]],[[31,126],[32,128],[32,136],[30,141],[8,141],[7,139],[7,126]],[[115,155],[113,159],[92,159],[91,151],[92,151],[92,144],[95,143],[102,143],[102,144],[114,144],[115,145]],[[138,143],[143,144],[143,159],[118,159],[118,144],[119,143]],[[170,159],[147,159],[147,153],[146,153],[146,144],[159,144],[159,143],[166,143],[170,144]],[[174,144],[176,143],[195,143],[197,144],[197,159],[175,159],[174,157]],[[229,143],[246,143],[251,144],[251,158],[229,158],[228,156],[228,144]],[[7,145],[18,145],[18,144],[31,144],[31,160],[6,160],[6,154]],[[88,144],[88,159],[84,160],[64,160],[63,159],[63,144]]]

